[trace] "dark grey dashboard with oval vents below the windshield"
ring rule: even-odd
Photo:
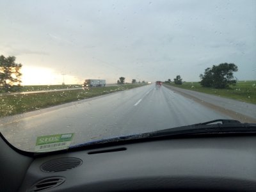
[[[12,179],[1,181],[4,191],[14,190],[15,177],[18,191],[256,191],[255,135],[129,141],[34,157],[15,153],[0,160],[1,177]]]

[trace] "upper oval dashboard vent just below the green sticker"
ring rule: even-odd
[[[59,159],[52,159],[42,164],[41,170],[43,172],[52,173],[52,172],[63,172],[71,170],[81,165],[83,161],[74,157],[65,157]]]

